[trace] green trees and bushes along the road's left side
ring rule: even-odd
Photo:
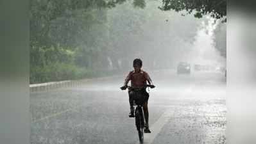
[[[124,2],[30,1],[30,82],[111,74],[107,57],[115,49],[109,46],[107,10]],[[146,3],[134,0],[133,6],[144,8]]]

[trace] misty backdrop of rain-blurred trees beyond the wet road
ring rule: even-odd
[[[30,83],[123,74],[134,58],[147,70],[176,68],[180,61],[226,67],[225,20],[162,10],[164,4],[31,1]]]

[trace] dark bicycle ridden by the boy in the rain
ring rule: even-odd
[[[126,90],[128,88],[129,90],[132,90],[135,92],[135,96],[133,97],[133,108],[135,109],[135,125],[139,134],[139,141],[140,143],[143,143],[144,141],[144,113],[142,109],[142,105],[145,102],[145,97],[141,93],[144,88],[155,88],[154,85],[146,84],[146,86],[142,88],[133,88],[132,86],[126,86],[125,88],[121,87],[121,90]]]

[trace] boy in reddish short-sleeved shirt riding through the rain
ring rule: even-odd
[[[149,130],[149,125],[148,125],[148,98],[149,98],[149,93],[146,92],[146,88],[144,86],[147,84],[147,81],[149,84],[153,85],[153,82],[151,78],[149,77],[148,73],[145,72],[144,70],[141,69],[142,67],[142,61],[140,59],[135,59],[133,60],[133,68],[131,72],[129,72],[128,76],[124,80],[124,86],[121,88],[124,90],[127,87],[127,84],[129,81],[131,81],[131,86],[133,88],[143,88],[142,94],[145,97],[145,102],[143,104],[143,111],[144,111],[144,117],[145,117],[145,133],[150,133],[151,131]],[[128,90],[129,94],[129,102],[130,102],[130,113],[129,117],[134,117],[134,109],[133,109],[133,97],[135,96],[135,92],[132,90]]]

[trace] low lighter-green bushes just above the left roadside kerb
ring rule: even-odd
[[[46,83],[49,81],[64,81],[68,79],[83,79],[85,77],[108,76],[113,72],[97,70],[76,63],[76,54],[62,47],[31,49],[30,83]]]

